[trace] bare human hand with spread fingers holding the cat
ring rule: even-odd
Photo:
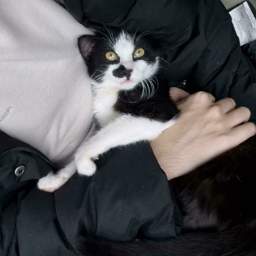
[[[206,92],[188,94],[172,87],[172,99],[181,110],[176,124],[150,142],[168,180],[182,176],[255,135],[256,126],[246,123],[248,108],[234,109],[233,99],[215,98]]]

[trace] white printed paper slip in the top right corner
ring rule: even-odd
[[[247,2],[240,4],[229,14],[241,46],[256,39],[256,19]]]

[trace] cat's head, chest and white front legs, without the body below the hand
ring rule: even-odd
[[[125,31],[101,38],[83,35],[80,53],[92,78],[93,113],[98,131],[82,142],[74,159],[57,174],[38,181],[38,188],[53,192],[76,170],[91,176],[94,160],[110,148],[153,140],[177,120],[178,109],[169,86],[155,77],[160,58],[157,47],[140,34]]]

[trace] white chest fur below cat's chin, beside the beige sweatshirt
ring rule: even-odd
[[[93,89],[93,113],[101,126],[117,117],[113,106],[117,102],[118,91],[116,87],[100,87],[99,85]]]

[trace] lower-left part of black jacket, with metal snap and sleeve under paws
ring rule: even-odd
[[[148,143],[110,150],[93,177],[76,173],[54,193],[38,178],[52,163],[0,132],[0,255],[76,255],[79,235],[127,241],[174,237],[182,218]]]

